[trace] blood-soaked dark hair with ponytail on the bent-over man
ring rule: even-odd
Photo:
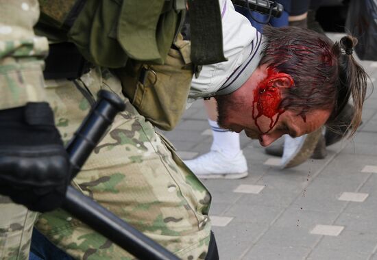
[[[352,56],[357,40],[345,36],[333,43],[324,34],[300,27],[266,26],[263,36],[260,65],[287,73],[294,81],[284,90],[280,108],[303,118],[315,109],[328,109],[330,123],[352,96],[355,113],[348,127],[353,134],[361,123],[367,88],[367,74]]]

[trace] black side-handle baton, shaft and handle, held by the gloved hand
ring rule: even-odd
[[[118,112],[125,109],[123,101],[112,92],[101,90],[98,101],[77,129],[66,146],[71,162],[71,178],[75,177],[101,140]],[[127,250],[138,259],[179,260],[164,247],[157,244],[130,224],[118,218],[93,199],[68,187],[62,209],[81,220],[93,230]]]

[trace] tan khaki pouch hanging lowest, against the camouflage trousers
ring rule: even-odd
[[[167,131],[174,129],[186,108],[193,77],[190,42],[179,35],[173,45],[163,65],[129,60],[125,68],[115,70],[132,105],[153,125]]]

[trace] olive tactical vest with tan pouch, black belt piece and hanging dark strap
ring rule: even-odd
[[[197,65],[226,60],[218,0],[189,0],[191,42],[178,37],[185,0],[39,1],[36,34],[59,42],[45,79],[77,79],[88,62],[113,68],[123,94],[160,129],[179,122]]]

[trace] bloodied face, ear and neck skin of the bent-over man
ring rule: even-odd
[[[293,86],[293,79],[273,69],[258,68],[238,90],[217,96],[218,123],[224,129],[241,132],[259,139],[268,146],[281,135],[298,137],[324,125],[330,111],[316,109],[302,116],[297,111],[280,107],[284,90]]]

